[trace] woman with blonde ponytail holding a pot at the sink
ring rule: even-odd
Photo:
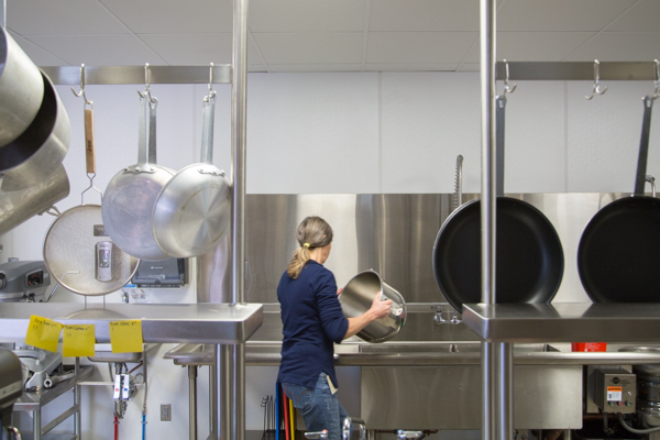
[[[298,226],[300,248],[294,252],[277,286],[284,340],[277,381],[300,410],[307,431],[328,430],[329,440],[341,439],[346,414],[337,398],[333,342],[340,343],[387,316],[392,300],[380,300],[356,318],[345,318],[338,299],[334,275],[323,263],[330,255],[332,228],[320,217]]]

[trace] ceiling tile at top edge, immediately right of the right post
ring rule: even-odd
[[[636,0],[508,0],[497,31],[600,31]]]

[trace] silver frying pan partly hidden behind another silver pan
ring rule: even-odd
[[[101,213],[106,232],[122,251],[141,260],[169,255],[158,248],[152,232],[152,213],[158,194],[174,170],[156,165],[156,107],[151,95],[140,95],[138,164],[119,172],[106,188]],[[148,110],[148,157],[145,113]]]

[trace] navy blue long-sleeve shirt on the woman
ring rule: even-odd
[[[307,262],[297,279],[285,271],[277,299],[284,324],[277,381],[314,389],[324,372],[337,387],[332,343],[342,341],[349,320],[341,311],[332,272],[314,260]]]

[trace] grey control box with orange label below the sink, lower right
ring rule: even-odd
[[[622,370],[596,370],[595,403],[603,413],[632,414],[637,376]]]

